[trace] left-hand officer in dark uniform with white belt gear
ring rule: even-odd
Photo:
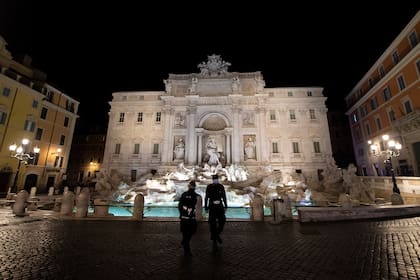
[[[195,181],[188,183],[188,190],[181,195],[178,203],[179,218],[181,219],[181,244],[184,247],[184,254],[191,256],[190,240],[197,231],[197,220],[195,219],[195,206],[198,194],[195,192]]]

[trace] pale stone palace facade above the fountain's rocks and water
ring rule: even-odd
[[[200,73],[170,74],[165,91],[115,92],[103,169],[132,181],[145,172],[269,167],[318,174],[332,160],[319,87],[266,88],[261,72],[228,72],[218,55]]]

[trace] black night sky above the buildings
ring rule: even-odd
[[[33,2],[0,0],[0,35],[14,57],[29,54],[50,84],[81,102],[78,132],[105,131],[112,92],[163,90],[169,73],[198,73],[211,54],[230,62],[230,72],[261,71],[266,87],[324,87],[327,106],[344,112],[344,97],[420,8],[412,0],[380,9],[343,1]]]

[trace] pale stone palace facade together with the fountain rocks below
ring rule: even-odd
[[[229,66],[210,55],[199,73],[169,74],[165,91],[114,92],[98,189],[120,177],[120,201],[142,192],[146,204],[173,202],[188,180],[200,191],[219,174],[230,205],[256,194],[309,203],[308,186],[319,201],[336,196],[323,89],[266,88],[261,72]]]

